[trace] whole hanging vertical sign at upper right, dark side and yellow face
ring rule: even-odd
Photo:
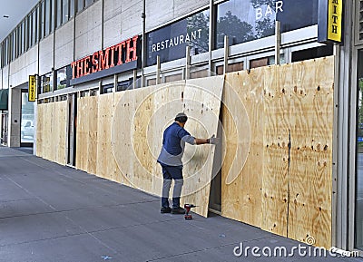
[[[343,0],[320,0],[318,41],[341,43],[342,27]]]

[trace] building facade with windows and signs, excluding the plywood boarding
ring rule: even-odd
[[[64,160],[76,166],[83,97],[334,54],[331,246],[362,248],[363,1],[344,2],[341,44],[319,41],[322,2],[39,1],[1,43],[0,84],[8,94],[2,143],[34,144],[36,151],[39,105],[66,102]],[[36,76],[36,102],[28,101],[29,75]]]

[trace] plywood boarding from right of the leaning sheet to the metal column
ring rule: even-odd
[[[223,216],[330,247],[333,83],[333,57],[226,75]]]

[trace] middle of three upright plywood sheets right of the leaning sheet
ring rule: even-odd
[[[287,236],[291,64],[265,67],[261,228]],[[280,76],[283,80],[280,82]],[[285,80],[285,81],[284,81]]]

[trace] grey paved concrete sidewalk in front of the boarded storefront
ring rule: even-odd
[[[156,197],[4,147],[0,236],[4,262],[363,261],[299,256],[301,243],[228,218],[160,214]],[[236,257],[241,242],[260,257]],[[275,247],[294,256],[274,256]]]

